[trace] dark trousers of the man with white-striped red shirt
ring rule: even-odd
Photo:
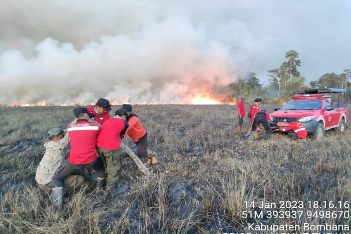
[[[55,172],[51,181],[51,187],[62,187],[64,185],[63,182],[66,177],[81,168],[95,170],[97,177],[103,178],[105,176],[105,167],[100,158],[97,158],[91,163],[80,165],[74,165],[66,160]]]

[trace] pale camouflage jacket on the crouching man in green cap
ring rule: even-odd
[[[35,174],[35,180],[38,183],[46,185],[51,182],[54,173],[67,158],[69,142],[69,136],[66,134],[59,141],[48,141],[44,144],[46,151]]]

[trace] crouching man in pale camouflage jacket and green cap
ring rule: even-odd
[[[41,159],[35,174],[35,180],[39,188],[47,193],[51,192],[50,182],[56,170],[66,159],[67,146],[69,145],[69,135],[64,133],[61,128],[52,128],[48,132],[49,140],[44,144],[45,154]],[[63,181],[62,194],[67,194],[78,189],[84,182],[81,175],[69,175]]]

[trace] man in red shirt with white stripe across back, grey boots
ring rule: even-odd
[[[57,169],[50,183],[54,206],[62,205],[63,181],[68,175],[81,168],[95,170],[98,180],[105,176],[104,164],[97,156],[96,139],[101,127],[88,122],[95,116],[87,108],[77,107],[73,110],[77,122],[67,128],[71,139],[71,152],[68,159]],[[98,182],[99,183],[99,182]]]

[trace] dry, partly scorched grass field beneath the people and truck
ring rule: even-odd
[[[274,106],[261,106],[270,113]],[[113,107],[113,111],[119,107]],[[0,108],[0,233],[236,233],[249,223],[343,224],[350,218],[309,217],[308,201],[350,201],[351,131],[327,131],[323,140],[274,134],[242,140],[236,106],[134,106],[159,154],[145,177],[121,154],[120,181],[130,189],[117,198],[94,196],[86,182],[58,212],[34,176],[52,127],[65,128],[73,107]],[[349,126],[349,123],[346,124]],[[245,129],[249,120],[245,117]],[[135,151],[134,143],[124,142]],[[244,202],[303,201],[300,218],[243,218]],[[263,232],[265,233],[265,232]]]

